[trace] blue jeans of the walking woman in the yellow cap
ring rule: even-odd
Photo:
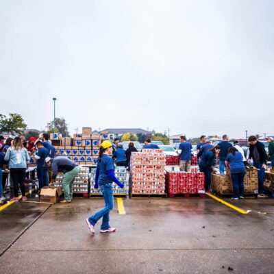
[[[99,186],[99,189],[103,193],[103,199],[105,199],[105,208],[102,208],[99,212],[88,218],[88,221],[95,225],[102,217],[103,222],[101,225],[101,230],[110,228],[110,210],[113,209],[113,193],[112,193],[112,183]]]

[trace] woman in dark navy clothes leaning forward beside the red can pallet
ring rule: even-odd
[[[221,151],[221,147],[216,145],[206,153],[203,153],[199,162],[199,169],[201,172],[205,173],[205,190],[208,191],[210,189],[211,184],[211,173],[216,172],[217,170],[214,168],[216,163],[217,155]]]

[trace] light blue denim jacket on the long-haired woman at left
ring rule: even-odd
[[[29,160],[29,153],[27,153],[25,148],[15,150],[13,147],[10,147],[5,153],[5,161],[9,161],[10,169],[26,169]]]

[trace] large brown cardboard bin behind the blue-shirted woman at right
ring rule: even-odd
[[[229,169],[227,169],[226,173],[227,174],[212,174],[211,188],[216,194],[233,194],[233,184]],[[258,169],[246,169],[244,187],[245,195],[258,194]]]

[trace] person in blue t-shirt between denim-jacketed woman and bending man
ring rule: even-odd
[[[39,183],[39,190],[41,190],[41,188],[43,188],[44,186],[49,186],[48,169],[47,163],[45,162],[45,159],[49,156],[49,150],[42,145],[42,142],[40,140],[36,142],[36,147],[38,148],[38,151],[36,152],[34,157],[37,159],[36,171]]]

